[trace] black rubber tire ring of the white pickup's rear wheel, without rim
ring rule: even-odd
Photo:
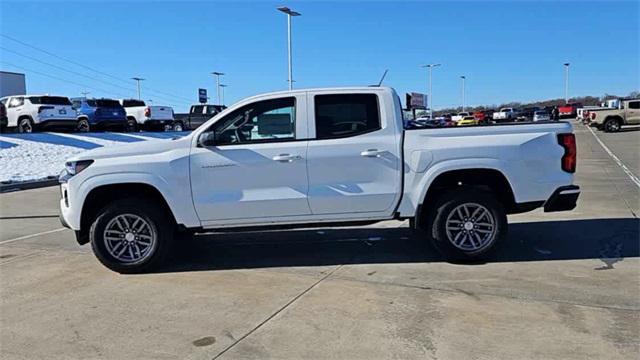
[[[453,245],[447,236],[447,217],[456,207],[464,203],[476,203],[489,210],[496,226],[496,234],[492,241],[483,248],[474,251],[463,251]],[[475,189],[460,189],[443,194],[436,202],[430,214],[431,238],[438,250],[448,259],[465,261],[484,259],[494,252],[507,234],[507,216],[504,207],[490,193]]]

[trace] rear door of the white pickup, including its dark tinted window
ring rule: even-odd
[[[386,96],[388,101],[383,102]],[[390,216],[401,190],[401,133],[384,91],[309,93],[309,206],[314,215]],[[381,106],[386,104],[386,106]]]

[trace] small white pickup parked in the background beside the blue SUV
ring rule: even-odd
[[[144,101],[136,99],[118,101],[127,112],[129,131],[167,130],[173,126],[173,109],[170,106],[147,106]]]

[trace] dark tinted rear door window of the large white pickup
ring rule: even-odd
[[[316,95],[316,138],[351,137],[381,129],[375,94]]]

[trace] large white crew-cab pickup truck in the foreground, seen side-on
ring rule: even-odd
[[[63,225],[144,272],[193,233],[408,220],[452,259],[487,256],[507,214],[571,210],[565,122],[404,130],[387,87],[251,97],[174,140],[94,149],[60,176]]]

